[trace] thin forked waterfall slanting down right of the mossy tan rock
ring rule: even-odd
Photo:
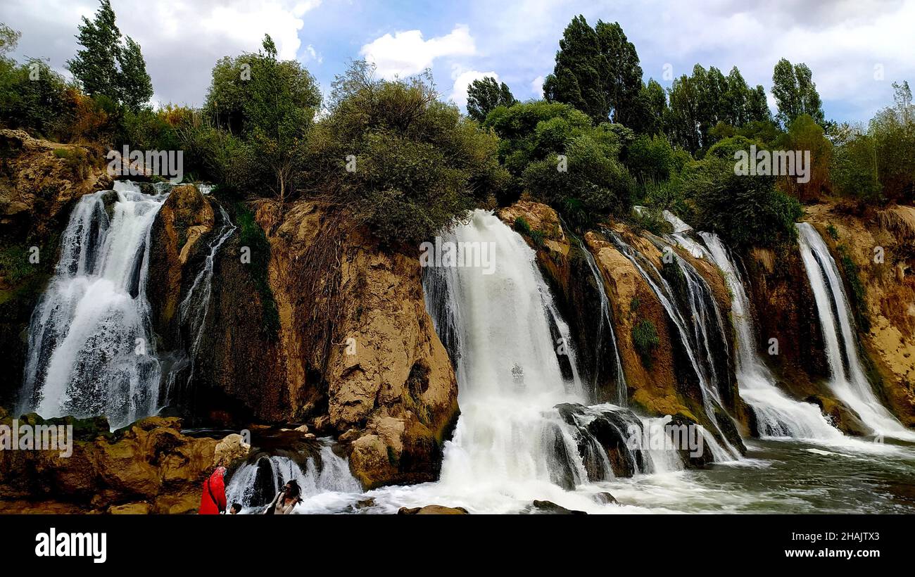
[[[726,445],[727,453],[725,454],[727,454],[727,460],[739,460],[740,453],[735,447],[727,442],[725,434],[721,431],[720,424],[718,423],[718,411],[721,413],[725,413],[725,411],[722,407],[721,396],[715,386],[715,381],[709,380],[710,377],[716,377],[716,370],[715,363],[713,362],[712,358],[713,346],[709,341],[708,330],[706,328],[710,322],[707,315],[708,306],[712,307],[712,312],[717,317],[716,329],[720,329],[720,314],[717,312],[715,299],[711,298],[711,294],[707,284],[705,283],[705,280],[701,277],[701,275],[699,275],[698,272],[695,271],[692,265],[690,265],[688,262],[684,262],[683,259],[672,252],[673,262],[676,262],[679,270],[684,273],[686,287],[689,293],[689,318],[693,321],[691,324],[694,327],[694,330],[690,331],[687,329],[687,323],[685,320],[686,317],[681,314],[679,307],[675,305],[673,288],[671,287],[670,283],[664,279],[661,272],[658,271],[658,269],[651,261],[649,261],[639,251],[633,249],[615,231],[606,230],[606,232],[608,233],[610,239],[613,240],[614,245],[619,249],[620,253],[622,253],[622,255],[625,256],[633,266],[635,266],[641,277],[645,280],[646,283],[649,284],[651,287],[651,292],[657,296],[658,300],[661,302],[661,305],[664,308],[664,311],[667,313],[668,317],[673,322],[673,325],[676,327],[680,341],[684,345],[686,356],[690,361],[690,365],[695,373],[696,379],[698,379],[699,389],[702,393],[703,405],[705,406],[705,413],[708,415],[709,420],[716,424],[717,432],[720,433],[721,440]],[[708,305],[709,302],[711,305]],[[699,357],[699,355],[702,354],[700,352],[700,348],[705,350],[707,366],[704,365],[701,358]],[[709,446],[714,446],[716,443],[708,444]],[[720,456],[722,455],[717,455],[716,459]]]

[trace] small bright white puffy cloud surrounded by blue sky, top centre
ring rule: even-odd
[[[420,30],[395,32],[375,38],[360,50],[382,78],[409,76],[432,66],[435,59],[472,56],[477,51],[470,28],[458,24],[445,36],[423,39]]]

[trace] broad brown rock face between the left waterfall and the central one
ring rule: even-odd
[[[242,263],[241,240],[226,244],[201,373],[255,420],[355,429],[350,466],[364,486],[435,479],[458,388],[425,311],[418,258],[382,251],[317,203],[281,214],[262,202],[255,215],[269,256]],[[248,268],[263,266],[258,258],[269,258],[266,292]],[[265,298],[275,302],[273,334],[263,330]]]

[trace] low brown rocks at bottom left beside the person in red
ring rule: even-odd
[[[37,503],[113,514],[197,509],[219,442],[181,434],[175,418],[149,417],[116,433],[79,433],[79,426],[69,457],[0,452],[0,510],[24,511]]]

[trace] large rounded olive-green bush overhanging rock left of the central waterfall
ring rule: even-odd
[[[334,81],[312,136],[311,189],[390,243],[429,239],[498,193],[509,177],[498,138],[437,97],[427,75],[377,80],[371,65],[355,62]]]

